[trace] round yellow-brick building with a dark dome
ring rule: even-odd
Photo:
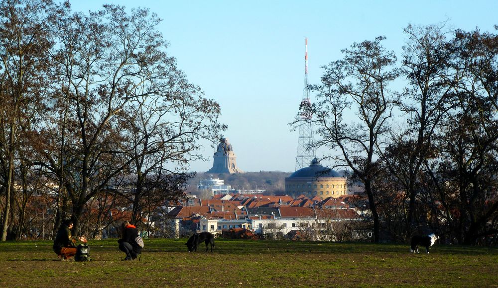
[[[299,169],[285,178],[285,193],[318,196],[322,199],[337,198],[348,194],[346,177],[313,159],[310,166]]]

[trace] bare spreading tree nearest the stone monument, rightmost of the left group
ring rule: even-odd
[[[162,77],[149,83],[156,86],[154,95],[136,97],[126,109],[121,130],[128,144],[126,157],[133,159],[129,170],[133,189],[126,195],[133,204],[133,222],[139,218],[144,196],[152,199],[162,193],[157,198],[162,202],[184,197],[186,181],[195,176],[188,173],[188,164],[202,158],[198,140],[218,139],[217,133],[225,129],[217,122],[218,103],[205,99],[182,72],[173,66]]]

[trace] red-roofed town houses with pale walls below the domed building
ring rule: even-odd
[[[338,227],[361,219],[348,204],[348,198],[215,195],[209,200],[196,199],[189,206],[172,208],[163,225],[176,238],[194,232],[221,234],[243,228],[266,237],[295,238],[297,233],[307,234],[310,240],[335,240]]]

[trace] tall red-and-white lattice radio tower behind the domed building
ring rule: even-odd
[[[304,54],[304,88],[303,100],[299,106],[300,117],[303,120],[299,125],[299,138],[297,142],[296,171],[311,165],[311,161],[316,157],[313,144],[313,130],[311,128],[311,114],[306,111],[306,107],[311,105],[308,93],[308,38],[305,38],[306,52]]]

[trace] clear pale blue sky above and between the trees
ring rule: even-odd
[[[321,66],[341,57],[353,42],[384,35],[398,57],[408,24],[448,20],[450,28],[494,31],[496,0],[70,0],[74,10],[104,3],[148,7],[163,21],[168,52],[188,79],[222,108],[225,136],[244,171],[285,171],[295,167],[296,131],[291,122],[304,82],[304,39],[308,40],[309,82],[319,83]],[[313,101],[313,95],[311,95]],[[317,155],[324,151],[318,151]],[[212,167],[194,162],[193,171]],[[327,165],[327,163],[322,163]]]

